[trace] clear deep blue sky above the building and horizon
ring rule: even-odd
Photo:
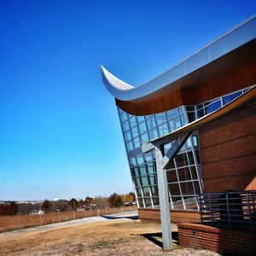
[[[0,201],[132,190],[100,64],[142,84],[253,15],[241,1],[1,1]]]

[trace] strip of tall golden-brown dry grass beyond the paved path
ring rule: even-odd
[[[16,215],[0,216],[0,233],[9,230],[20,230],[27,227],[54,224],[71,219],[87,218],[100,214],[125,212],[137,210],[137,207],[108,208],[98,211],[78,211],[78,212],[50,212],[44,215]]]

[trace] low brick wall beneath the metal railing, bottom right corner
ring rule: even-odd
[[[223,230],[201,224],[177,224],[177,228],[179,245],[184,247],[235,255],[255,255],[256,252],[256,232]]]

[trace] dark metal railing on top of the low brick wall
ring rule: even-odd
[[[256,190],[198,195],[201,224],[256,230]]]

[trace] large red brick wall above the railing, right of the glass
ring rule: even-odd
[[[199,129],[204,192],[256,189],[256,104]]]

